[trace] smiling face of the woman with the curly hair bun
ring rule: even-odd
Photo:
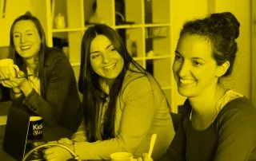
[[[210,42],[197,35],[183,35],[175,52],[174,78],[182,96],[199,96],[213,91],[218,84],[219,69],[212,57]]]

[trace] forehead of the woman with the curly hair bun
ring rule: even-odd
[[[183,35],[178,40],[177,49],[183,57],[212,57],[212,45],[206,37],[198,35]]]

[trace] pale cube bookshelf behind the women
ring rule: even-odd
[[[174,99],[174,78],[171,70],[172,18],[170,0],[95,0],[95,13],[100,23],[118,32],[126,41],[126,48],[134,60],[158,80],[172,107],[177,112]],[[94,13],[94,0],[38,0],[31,1],[32,14],[46,29],[47,44],[54,46],[53,37],[68,43],[67,56],[78,78],[82,34],[90,26],[86,22]],[[40,7],[39,7],[40,6]],[[54,6],[54,8],[53,8]],[[54,11],[53,11],[54,10]],[[61,13],[66,28],[56,29],[54,18]],[[54,15],[54,16],[52,16]]]

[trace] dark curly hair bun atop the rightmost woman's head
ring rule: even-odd
[[[210,19],[214,22],[212,24],[219,30],[225,31],[222,36],[230,39],[236,39],[239,36],[240,23],[235,18],[234,14],[230,12],[223,12],[219,14],[211,14]]]

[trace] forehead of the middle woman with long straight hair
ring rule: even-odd
[[[110,39],[105,35],[97,35],[90,43],[90,50],[105,49],[108,45],[112,44]]]

